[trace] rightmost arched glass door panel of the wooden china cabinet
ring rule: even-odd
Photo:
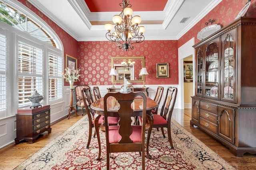
[[[235,60],[234,60],[234,40],[232,35],[227,34],[223,43],[223,72],[224,86],[222,89],[222,99],[234,100],[234,72],[235,72]]]

